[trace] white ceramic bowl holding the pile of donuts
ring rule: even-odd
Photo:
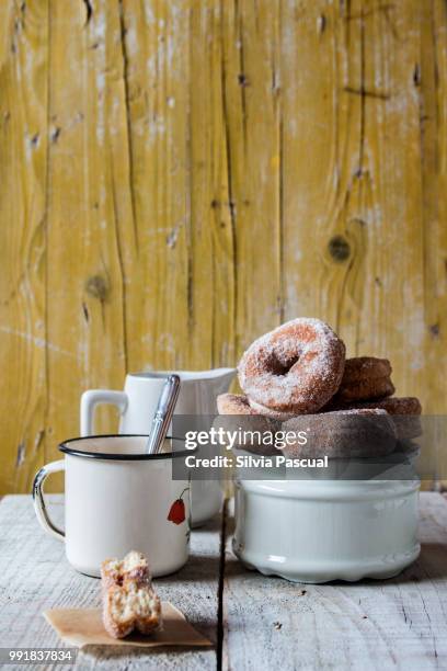
[[[233,551],[294,582],[391,578],[420,554],[419,480],[237,480]]]

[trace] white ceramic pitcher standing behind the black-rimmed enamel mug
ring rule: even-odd
[[[110,403],[119,409],[119,433],[148,434],[167,375],[180,376],[175,414],[216,414],[216,399],[228,391],[234,368],[213,371],[157,371],[127,375],[124,391],[90,389],[81,397],[81,435],[94,435],[94,409]],[[198,526],[220,510],[221,486],[218,480],[192,482],[192,522]]]

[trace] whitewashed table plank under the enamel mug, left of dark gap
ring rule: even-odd
[[[51,515],[55,520],[61,519],[62,497],[55,494],[49,500]],[[220,519],[216,519],[192,533],[188,564],[177,573],[154,581],[160,596],[181,609],[215,644],[219,551]],[[69,566],[64,544],[49,538],[38,527],[31,497],[5,497],[0,503],[0,647],[62,647],[42,611],[99,604],[100,582],[77,573]],[[176,648],[148,652],[91,646],[79,652],[77,668],[110,669],[111,662],[114,671],[207,670],[216,669],[216,650]]]

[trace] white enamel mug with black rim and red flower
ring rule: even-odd
[[[144,553],[152,575],[165,576],[187,560],[190,484],[172,479],[172,459],[185,452],[145,454],[146,435],[73,439],[59,445],[65,458],[44,466],[33,485],[43,528],[65,541],[67,559],[81,573],[99,577],[101,562]],[[187,454],[187,453],[186,453]],[[49,519],[43,485],[65,470],[65,531]]]

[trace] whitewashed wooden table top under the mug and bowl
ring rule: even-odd
[[[51,505],[62,514],[61,497],[53,496]],[[79,652],[76,667],[447,669],[447,502],[440,494],[421,494],[421,557],[387,581],[299,585],[264,578],[237,561],[230,535],[231,519],[225,518],[194,531],[186,567],[156,580],[162,599],[180,607],[214,649],[91,647]],[[64,545],[37,526],[31,497],[5,497],[0,503],[0,647],[59,647],[42,611],[99,602],[99,581],[70,568]]]

